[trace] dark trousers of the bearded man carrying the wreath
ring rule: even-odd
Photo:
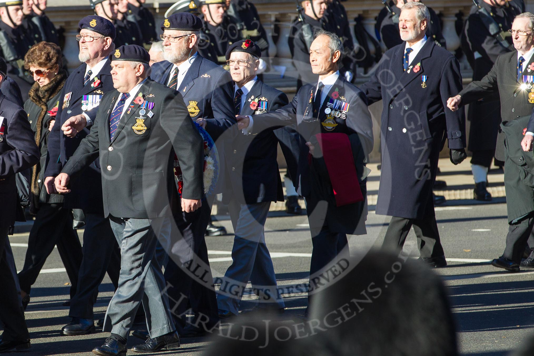
[[[201,317],[201,314],[209,318],[207,326],[213,326],[219,320],[215,290],[206,288],[182,270],[185,268],[183,264],[192,259],[200,259],[209,266],[205,233],[214,197],[212,195],[207,200],[202,200],[202,207],[197,211],[179,212],[180,216],[175,217],[175,224],[172,224],[169,260],[163,276],[168,287],[167,295],[172,319],[178,332],[186,326],[185,312],[190,307],[194,314],[193,323]],[[193,262],[191,268],[194,266],[196,264]],[[208,277],[213,278],[211,269],[206,278]]]

